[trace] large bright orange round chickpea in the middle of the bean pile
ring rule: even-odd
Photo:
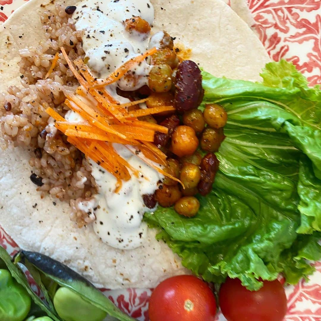
[[[192,155],[198,146],[195,130],[189,126],[177,126],[172,135],[172,150],[179,157]]]

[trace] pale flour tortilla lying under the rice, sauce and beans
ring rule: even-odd
[[[53,1],[52,1],[53,2]],[[43,38],[40,14],[53,6],[30,0],[2,26],[1,91],[20,84],[18,50]],[[77,1],[55,3],[77,5]],[[259,80],[269,58],[256,35],[221,0],[152,0],[153,32],[166,30],[192,48],[191,59],[216,76]],[[161,9],[162,8],[162,9]],[[20,35],[24,34],[22,38]],[[9,148],[0,157],[0,225],[18,245],[69,265],[98,287],[155,287],[163,279],[188,271],[178,256],[150,230],[143,247],[118,250],[98,239],[91,226],[78,229],[69,205],[40,194],[30,181],[29,151]]]

